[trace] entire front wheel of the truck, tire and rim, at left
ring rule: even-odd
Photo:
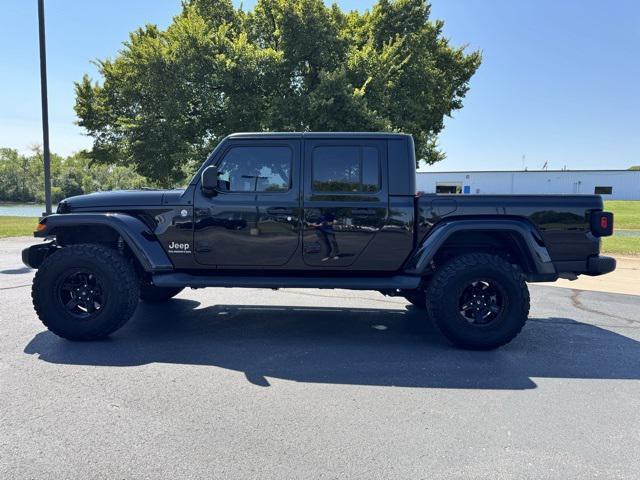
[[[71,245],[48,256],[33,280],[38,317],[56,335],[96,340],[122,327],[138,304],[132,265],[102,245]]]

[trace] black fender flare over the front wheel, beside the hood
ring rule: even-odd
[[[127,244],[147,272],[173,270],[173,264],[153,232],[141,220],[123,213],[54,214],[40,221],[36,237],[49,237],[60,228],[104,226],[113,229]],[[99,239],[96,239],[99,240]]]

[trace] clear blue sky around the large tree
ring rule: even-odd
[[[22,151],[41,142],[36,5],[0,6],[0,146]],[[91,144],[74,125],[73,81],[97,78],[91,60],[113,57],[134,28],[168,25],[180,1],[47,0],[46,8],[51,148],[68,154]],[[430,169],[640,164],[640,2],[433,0],[432,18],[484,61],[464,109],[446,121],[447,159]]]

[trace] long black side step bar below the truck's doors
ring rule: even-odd
[[[153,275],[158,287],[244,287],[244,288],[346,288],[349,290],[413,290],[420,277],[260,277],[201,276],[188,273],[158,273]]]

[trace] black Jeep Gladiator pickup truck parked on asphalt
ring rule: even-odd
[[[42,218],[47,241],[22,253],[35,310],[93,340],[185,287],[377,290],[492,349],[522,329],[527,281],[614,270],[601,197],[416,196],[415,169],[409,135],[231,135],[184,189],[71,197]]]

